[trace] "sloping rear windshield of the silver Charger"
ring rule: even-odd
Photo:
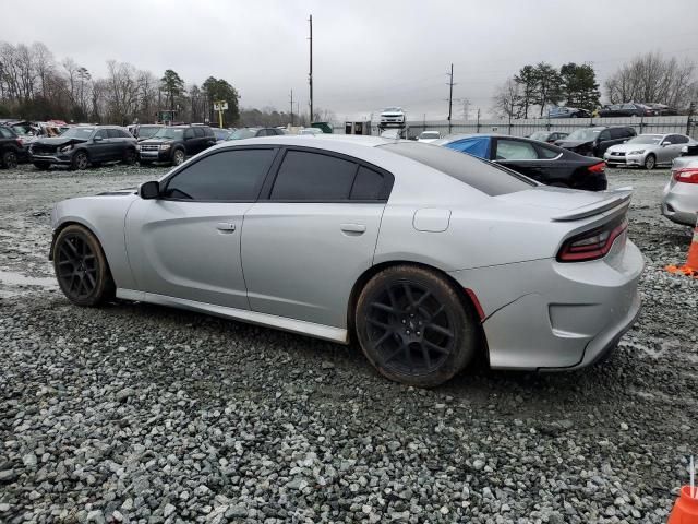
[[[380,147],[437,169],[490,196],[537,186],[534,181],[509,169],[437,145],[396,142]]]

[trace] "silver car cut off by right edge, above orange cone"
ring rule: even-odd
[[[674,160],[672,178],[664,187],[662,215],[677,224],[694,227],[698,221],[698,156]]]

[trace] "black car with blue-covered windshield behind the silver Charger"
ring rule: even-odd
[[[537,140],[505,134],[465,134],[433,142],[449,150],[501,164],[546,186],[603,191],[605,163]]]

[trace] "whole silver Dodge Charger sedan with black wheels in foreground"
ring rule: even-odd
[[[385,377],[434,386],[478,354],[574,369],[615,347],[640,309],[629,200],[430,144],[250,139],[59,202],[51,259],[77,306],[116,296],[356,340]]]

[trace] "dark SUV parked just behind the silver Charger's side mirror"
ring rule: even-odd
[[[137,148],[141,164],[167,162],[179,166],[188,156],[215,144],[216,136],[208,126],[168,126],[139,142]]]

